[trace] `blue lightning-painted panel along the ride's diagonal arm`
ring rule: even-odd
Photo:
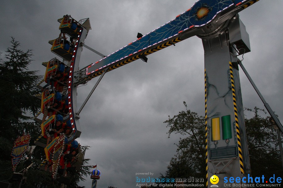
[[[132,55],[141,54],[146,49],[151,49],[156,45],[163,44],[169,39],[175,39],[180,36],[182,31],[193,27],[202,27],[210,23],[221,11],[233,10],[237,8],[236,4],[247,3],[251,0],[200,0],[194,3],[190,9],[181,13],[176,18],[163,24],[152,32],[144,35],[142,38],[133,41],[123,48],[113,52],[103,59],[93,63],[86,69],[86,75],[95,74],[101,69],[113,66],[122,60],[130,58]],[[257,0],[255,0],[257,1]],[[199,10],[207,8],[208,13],[200,17]],[[229,9],[228,9],[229,8]]]

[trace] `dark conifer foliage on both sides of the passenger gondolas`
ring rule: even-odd
[[[19,47],[20,43],[12,37],[11,46],[5,51],[4,58],[0,59],[0,181],[8,181],[12,177],[11,151],[14,140],[23,133],[29,133],[32,145],[41,134],[40,124],[32,120],[40,110],[41,101],[34,96],[40,92],[36,84],[41,76],[36,75],[37,71],[28,70],[32,62],[32,50],[24,52]],[[16,172],[24,168],[25,157]],[[28,169],[22,188],[60,187],[60,183],[53,181],[49,172],[39,170],[43,159],[44,150],[36,147],[31,156],[33,166]],[[89,160],[83,160],[82,170],[72,178],[70,187],[78,187],[77,183],[85,180],[83,176],[89,174],[91,169],[91,166],[87,166]],[[14,182],[12,187],[19,187],[19,182]]]

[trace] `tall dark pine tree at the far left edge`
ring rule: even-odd
[[[0,160],[10,160],[13,141],[24,132],[38,134],[39,125],[31,123],[39,110],[40,101],[34,97],[41,76],[29,71],[32,50],[19,50],[19,42],[12,37],[11,46],[0,61]],[[35,136],[35,135],[32,135]]]

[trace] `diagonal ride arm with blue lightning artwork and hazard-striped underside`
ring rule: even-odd
[[[176,18],[166,24],[76,72],[74,85],[84,84],[86,81],[101,75],[105,68],[108,68],[108,71],[114,70],[140,59],[143,55],[152,54],[189,37],[209,33],[211,26],[217,29],[217,26],[257,1],[259,0],[210,1],[211,15],[208,14],[207,18],[211,19],[205,21],[204,24],[199,24],[201,21],[196,19],[198,7],[194,6],[195,3],[190,9],[177,15]]]

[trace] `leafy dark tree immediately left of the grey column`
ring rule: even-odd
[[[203,116],[196,112],[179,112],[173,118],[166,120],[169,127],[168,137],[171,133],[181,134],[177,145],[177,154],[171,159],[165,177],[188,178],[205,177],[205,121]]]

